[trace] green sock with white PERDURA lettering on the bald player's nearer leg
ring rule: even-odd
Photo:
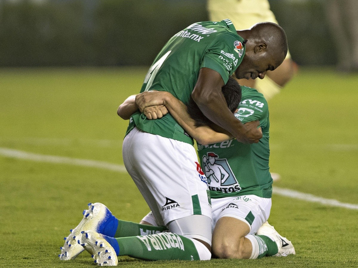
[[[200,260],[192,240],[173,233],[116,238],[119,256],[144,260]]]

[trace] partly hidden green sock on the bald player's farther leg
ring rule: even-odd
[[[157,234],[166,231],[165,226],[153,226],[135,222],[118,220],[118,227],[114,237],[130,237],[136,235]]]

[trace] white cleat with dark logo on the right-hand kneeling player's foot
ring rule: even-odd
[[[279,252],[277,252],[275,256],[287,256],[296,254],[295,248],[293,247],[291,241],[277,233],[275,228],[268,222],[262,224],[262,226],[257,230],[256,234],[266,235],[276,242]]]

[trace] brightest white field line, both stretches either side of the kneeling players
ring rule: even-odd
[[[78,165],[82,167],[102,168],[102,169],[112,170],[116,172],[127,172],[123,165],[116,165],[116,164],[111,164],[111,163],[96,161],[96,160],[27,153],[24,151],[14,150],[9,148],[0,148],[0,155],[4,157],[13,157],[18,159],[31,160],[35,162]],[[305,193],[297,192],[295,190],[273,187],[273,193],[290,198],[308,201],[308,202],[328,205],[330,207],[341,207],[341,208],[358,210],[358,204],[342,203],[335,199],[317,197],[313,194],[305,194]]]

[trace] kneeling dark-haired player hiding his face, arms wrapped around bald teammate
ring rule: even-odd
[[[198,126],[193,115],[190,118],[190,110],[188,114],[185,105],[169,93],[153,91],[138,97],[145,99],[148,105],[165,105],[167,110],[161,108],[160,113],[169,110],[198,141],[200,164],[212,198],[213,255],[256,259],[265,255],[295,254],[292,243],[266,222],[271,209],[272,178],[269,172],[269,110],[263,95],[243,86],[242,100],[235,112],[236,118],[243,123],[260,120],[263,138],[257,144],[243,144],[231,139],[225,131],[217,133],[208,125]],[[158,109],[158,106],[150,107],[144,113],[148,118],[155,118]],[[217,142],[220,139],[227,140]],[[144,220],[156,225],[150,216]]]

